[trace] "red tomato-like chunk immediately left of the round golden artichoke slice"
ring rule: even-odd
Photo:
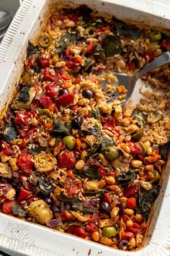
[[[31,174],[32,166],[34,166],[32,159],[32,155],[19,155],[17,164],[22,171],[26,172],[27,174]]]

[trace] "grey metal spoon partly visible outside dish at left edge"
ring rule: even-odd
[[[7,27],[12,21],[12,16],[9,12],[0,10],[0,38],[6,33]]]

